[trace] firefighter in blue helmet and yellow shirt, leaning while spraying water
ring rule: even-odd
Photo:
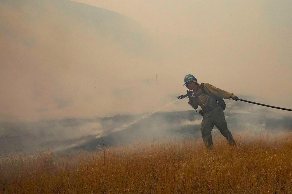
[[[237,100],[238,97],[230,92],[216,88],[209,83],[200,84],[197,82],[197,78],[191,74],[186,75],[184,81],[185,83],[183,85],[185,85],[188,90],[192,90],[192,92],[190,92],[188,95],[188,104],[190,104],[194,109],[197,109],[199,105],[202,108],[199,113],[203,116],[201,123],[201,133],[205,146],[208,149],[213,148],[211,131],[214,125],[227,139],[229,145],[235,145],[235,141],[227,127],[227,122],[225,120],[225,114],[223,110],[225,109],[226,105],[223,98]],[[220,101],[220,99],[222,100]]]

